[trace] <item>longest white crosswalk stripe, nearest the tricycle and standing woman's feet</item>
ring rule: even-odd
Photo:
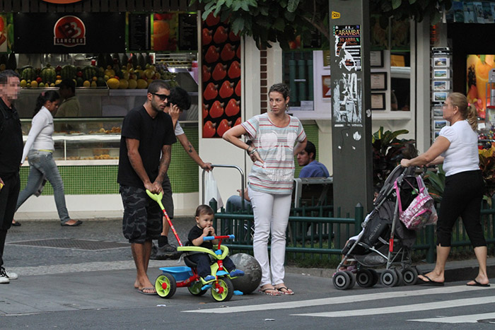
[[[442,288],[429,288],[423,290],[409,290],[409,291],[390,291],[380,293],[368,293],[363,295],[347,295],[331,298],[320,298],[313,300],[298,300],[291,302],[271,302],[269,304],[262,305],[247,305],[247,306],[235,306],[228,308],[212,308],[205,310],[185,310],[182,312],[186,313],[216,313],[216,314],[227,314],[227,313],[237,313],[237,312],[253,312],[260,310],[284,310],[290,308],[301,308],[301,307],[311,307],[311,306],[321,306],[321,305],[336,305],[342,304],[342,302],[363,302],[369,300],[379,300],[397,297],[417,297],[420,295],[438,295],[438,294],[448,294],[448,293],[460,293],[464,291],[472,290],[491,290],[491,288],[481,288],[481,287],[470,287],[467,285],[457,285],[457,286],[445,286]]]

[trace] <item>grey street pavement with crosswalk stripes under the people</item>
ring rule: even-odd
[[[194,225],[194,219],[177,218],[174,225],[179,236],[185,240],[187,232]],[[62,243],[60,247],[26,245],[27,241],[32,240],[56,240]],[[84,242],[81,246],[74,244],[79,240],[91,241],[91,244],[94,242],[93,246],[99,248],[88,249],[87,244],[82,244]],[[175,243],[175,239],[172,238],[172,242]],[[152,260],[148,276],[154,282],[161,274],[159,267],[182,265],[183,261]],[[352,290],[339,291],[332,285],[332,269],[287,267],[286,284],[296,292],[293,296],[269,297],[253,293],[234,296],[229,302],[218,303],[211,300],[209,293],[194,297],[188,293],[187,288],[177,288],[177,293],[169,300],[141,295],[133,288],[134,262],[129,244],[122,236],[120,219],[85,220],[78,228],[62,227],[58,220],[23,220],[21,227],[13,227],[8,232],[4,266],[20,277],[10,284],[0,285],[0,329],[20,329],[25,326],[30,326],[30,329],[67,329],[75,327],[69,326],[74,324],[74,320],[85,329],[162,329],[165,326],[171,329],[191,329],[192,324],[187,322],[193,322],[194,327],[197,327],[202,324],[202,320],[217,322],[223,317],[230,317],[229,322],[234,322],[235,319],[248,322],[232,325],[240,329],[302,329],[307,326],[308,321],[315,329],[327,329],[330,319],[344,316],[353,319],[349,324],[361,320],[361,324],[356,323],[357,327],[361,325],[361,328],[366,329],[394,329],[390,324],[380,324],[383,322],[380,319],[375,319],[378,323],[363,326],[361,316],[366,313],[385,315],[390,313],[391,308],[388,307],[388,311],[373,312],[368,310],[370,305],[366,304],[373,302],[373,307],[378,307],[375,301],[383,300],[382,305],[387,305],[389,300],[395,301],[395,298],[403,297],[401,302],[418,299],[421,306],[424,302],[420,299],[424,295],[440,295],[441,300],[445,301],[453,299],[454,294],[460,295],[466,302],[445,302],[445,305],[471,306],[474,309],[472,314],[487,313],[480,310],[475,302],[479,302],[484,308],[491,308],[491,311],[495,310],[495,285],[492,284],[491,288],[484,288],[485,290],[465,285],[465,281],[474,278],[476,274],[475,260],[449,262],[446,273],[449,283],[443,288],[432,289],[424,285],[384,288],[376,285],[375,288],[363,289],[356,285]],[[429,271],[433,265],[421,264],[418,268],[420,271]],[[489,275],[493,277],[494,273],[495,259],[490,258]],[[495,284],[493,278],[491,282]],[[431,300],[430,304],[434,304],[439,298],[428,299]],[[349,305],[345,308],[346,312],[342,311],[342,303],[350,304],[354,301],[356,304],[359,302],[359,309],[354,310],[356,306]],[[440,308],[438,305],[430,307],[431,310]],[[421,307],[414,308],[421,310]],[[281,314],[281,310],[285,314]],[[469,309],[465,307],[463,311],[466,310]],[[445,313],[443,315],[455,317],[460,314],[454,311],[447,316]],[[487,317],[485,314],[479,316],[479,319],[490,319],[490,315],[487,314]],[[430,318],[437,316],[433,313]],[[423,312],[419,318],[424,317]],[[495,314],[491,318],[495,319]],[[178,319],[180,324],[177,324]],[[335,328],[349,329],[347,322],[339,322],[339,326]],[[231,326],[216,327],[231,329]]]

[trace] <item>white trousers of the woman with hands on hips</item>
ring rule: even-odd
[[[255,213],[255,237],[253,250],[260,263],[262,278],[260,286],[284,283],[286,230],[291,213],[291,194],[267,194],[248,188],[252,211]],[[268,237],[272,231],[270,260]]]

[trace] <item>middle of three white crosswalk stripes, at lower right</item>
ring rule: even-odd
[[[308,314],[292,314],[294,316],[307,317],[362,317],[366,315],[395,314],[404,312],[419,312],[422,310],[438,310],[442,308],[452,308],[461,306],[482,305],[494,302],[493,297],[475,297],[458,300],[444,300],[441,302],[421,302],[420,304],[390,306],[380,308],[369,308],[367,310],[340,310],[338,312],[322,312]]]

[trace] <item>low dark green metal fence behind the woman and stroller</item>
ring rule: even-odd
[[[495,205],[495,204],[494,204]],[[216,209],[216,205],[212,205]],[[361,231],[364,218],[363,208],[356,206],[355,218],[341,217],[339,211],[334,216],[333,206],[303,206],[292,208],[287,228],[288,257],[296,254],[318,256],[330,259],[332,255],[340,255],[347,237]],[[482,226],[489,247],[489,253],[495,249],[495,208],[482,206]],[[218,223],[219,222],[219,223]],[[234,234],[235,240],[228,242],[228,247],[237,251],[252,251],[252,234],[254,217],[252,210],[225,211],[215,214],[215,226],[224,234]],[[413,246],[413,256],[435,261],[436,235],[435,226],[427,226],[417,232],[417,242]],[[472,254],[472,246],[462,221],[455,223],[452,236],[452,255]]]

